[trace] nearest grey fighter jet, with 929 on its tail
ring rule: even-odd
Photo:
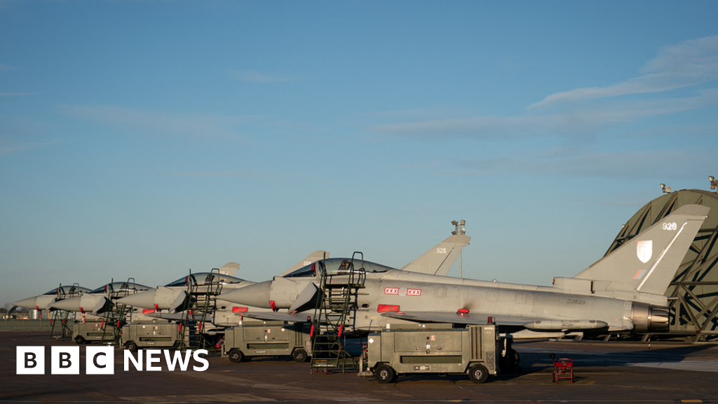
[[[491,319],[508,338],[666,330],[668,298],[663,293],[708,211],[706,206],[681,206],[576,276],[554,277],[553,286],[485,282],[355,263],[354,271],[365,276],[364,288],[357,293],[354,323],[346,329],[378,331],[397,322],[476,324]],[[337,284],[342,276],[348,277],[342,267],[341,259],[316,262],[219,298],[277,311],[256,318],[303,321],[305,313],[292,311],[316,299],[321,272],[332,275],[332,283]],[[289,310],[278,311],[283,308]]]

